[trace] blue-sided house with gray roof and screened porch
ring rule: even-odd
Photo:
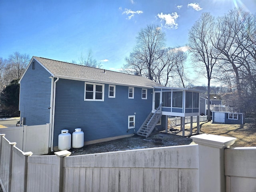
[[[199,118],[198,91],[138,75],[33,56],[19,83],[22,124],[49,123],[52,151],[63,129],[81,128],[93,144],[167,130],[168,116]]]

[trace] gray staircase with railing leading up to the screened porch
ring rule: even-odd
[[[150,113],[148,115],[148,117],[146,118],[142,126],[137,131],[137,135],[144,136],[146,138],[150,136],[150,133],[156,127],[156,124],[160,120],[161,116],[162,116],[162,103],[158,106],[158,108],[156,109],[156,112]]]

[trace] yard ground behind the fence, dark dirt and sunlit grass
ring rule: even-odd
[[[194,123],[193,135],[196,134],[196,126],[196,123]],[[165,133],[165,131],[156,132],[148,138],[143,138],[135,135],[129,138],[122,138],[114,141],[92,144],[84,146],[80,149],[71,149],[70,152],[72,152],[71,155],[82,155],[142,148],[195,144],[189,136],[190,124],[186,124],[185,126],[185,137],[182,137],[182,131],[180,131],[180,126],[173,127],[172,130],[175,129],[176,131],[170,131],[169,129],[168,133]],[[253,127],[251,124],[231,125],[201,122],[200,133],[235,137],[237,138],[237,140],[231,146],[232,148],[256,146],[256,127]],[[156,140],[162,140],[162,142],[156,142]]]

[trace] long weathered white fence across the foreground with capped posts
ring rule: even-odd
[[[201,134],[185,146],[31,156],[0,134],[4,192],[241,192],[256,189],[256,148]],[[244,163],[246,162],[246,163]]]

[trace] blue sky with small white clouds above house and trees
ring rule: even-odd
[[[162,27],[168,47],[184,46],[202,12],[234,7],[256,13],[256,0],[0,0],[0,57],[22,54],[71,62],[88,49],[118,70],[141,28]]]

